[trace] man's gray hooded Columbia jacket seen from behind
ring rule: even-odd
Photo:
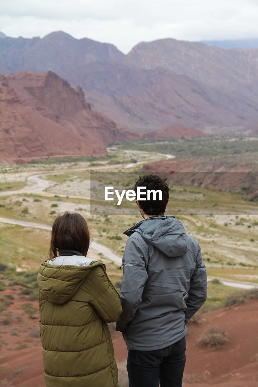
[[[149,217],[124,234],[123,312],[116,329],[129,350],[165,348],[185,336],[185,323],[206,300],[200,246],[174,216]]]

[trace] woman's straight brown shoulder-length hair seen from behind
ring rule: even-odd
[[[55,219],[50,241],[50,259],[57,257],[59,250],[76,250],[84,256],[89,249],[89,229],[80,214],[65,211]]]

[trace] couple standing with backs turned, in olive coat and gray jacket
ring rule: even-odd
[[[125,231],[121,296],[106,267],[86,257],[89,230],[79,214],[53,223],[50,260],[38,274],[46,387],[116,387],[108,322],[117,321],[128,349],[130,387],[181,387],[186,323],[206,300],[198,242],[174,216],[165,178],[141,176],[137,187],[162,200],[137,201],[144,220]]]

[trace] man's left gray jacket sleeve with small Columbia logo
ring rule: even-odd
[[[129,238],[123,256],[124,277],[121,282],[121,304],[123,312],[117,320],[116,330],[125,332],[128,324],[141,302],[144,284],[148,279],[145,263],[148,262],[148,253],[141,241]]]

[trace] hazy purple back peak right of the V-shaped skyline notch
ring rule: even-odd
[[[255,86],[252,82],[258,79],[258,50],[223,50],[204,43],[161,39],[139,43],[125,60],[141,68],[185,75],[228,93],[236,87]]]

